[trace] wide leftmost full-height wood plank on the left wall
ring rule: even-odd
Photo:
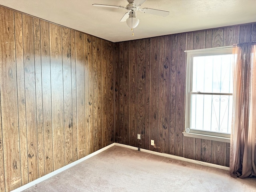
[[[14,12],[0,7],[0,99],[4,183],[6,191],[21,186],[18,99],[15,63]],[[11,138],[11,139],[10,139]]]

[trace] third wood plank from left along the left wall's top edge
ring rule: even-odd
[[[26,124],[28,137],[28,179],[29,182],[38,178],[38,140],[36,126],[36,82],[34,58],[33,18],[22,15],[24,77],[26,97]]]

